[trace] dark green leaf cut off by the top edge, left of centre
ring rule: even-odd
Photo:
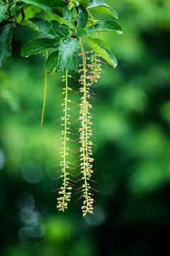
[[[20,1],[20,0],[18,0]],[[49,13],[55,13],[55,8],[57,6],[64,7],[66,3],[63,0],[22,0],[26,4],[34,4],[40,7],[42,10]]]

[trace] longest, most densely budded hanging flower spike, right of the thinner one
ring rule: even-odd
[[[80,104],[80,121],[81,121],[81,128],[79,129],[80,132],[80,160],[81,160],[81,174],[83,177],[81,178],[82,181],[84,181],[84,184],[81,186],[82,194],[80,198],[84,198],[84,206],[82,206],[82,212],[83,216],[86,216],[86,213],[93,213],[93,203],[94,198],[91,198],[91,186],[89,184],[89,179],[91,178],[91,174],[94,172],[92,170],[93,168],[93,161],[94,159],[91,157],[93,155],[91,146],[93,143],[90,141],[90,137],[92,136],[92,130],[91,126],[93,125],[93,122],[91,122],[91,114],[89,113],[89,109],[92,108],[92,105],[87,100],[91,97],[91,92],[89,90],[89,83],[86,83],[86,80],[89,79],[89,76],[87,75],[87,69],[86,69],[86,53],[84,50],[84,45],[81,41],[81,53],[83,58],[83,75],[81,75],[81,84],[84,87],[80,88],[80,92],[83,93],[83,97],[81,97],[81,104]],[[91,58],[88,58],[88,60],[91,60]]]

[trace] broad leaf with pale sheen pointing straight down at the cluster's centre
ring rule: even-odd
[[[60,41],[59,47],[59,65],[61,71],[67,70],[69,63],[71,63],[74,53],[77,52],[79,40],[77,38],[63,38]]]

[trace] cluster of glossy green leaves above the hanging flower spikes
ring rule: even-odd
[[[77,50],[79,38],[95,50],[114,68],[117,60],[110,46],[94,33],[122,33],[120,24],[115,20],[96,21],[90,11],[98,11],[118,18],[105,0],[22,0],[0,1],[0,66],[11,55],[13,29],[17,26],[29,26],[38,31],[40,38],[29,41],[23,46],[21,55],[42,53],[52,49],[46,60],[45,69],[77,72]],[[45,12],[45,18],[35,14]]]

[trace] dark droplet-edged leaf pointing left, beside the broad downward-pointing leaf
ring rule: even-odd
[[[41,53],[41,50],[44,49],[58,48],[59,45],[60,41],[55,39],[39,38],[31,40],[23,46],[21,56],[28,57],[33,54]]]

